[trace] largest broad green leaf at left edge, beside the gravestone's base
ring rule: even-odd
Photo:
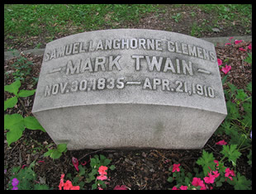
[[[20,114],[4,116],[4,130],[7,132],[7,143],[10,146],[12,142],[19,140],[25,130],[23,117]]]

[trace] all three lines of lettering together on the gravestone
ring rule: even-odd
[[[47,64],[52,59],[58,59],[73,54],[98,52],[101,50],[111,50],[110,55],[94,55],[94,57],[83,57],[79,55],[77,59],[69,59],[61,65],[48,71],[48,73],[64,73],[65,76],[72,76],[87,73],[86,78],[79,78],[73,81],[63,81],[60,83],[51,83],[44,88],[44,97],[64,95],[73,92],[93,92],[104,90],[124,89],[126,87],[140,87],[142,91],[185,93],[188,96],[198,95],[201,97],[214,98],[215,90],[211,86],[203,83],[187,82],[186,80],[171,81],[172,74],[181,74],[190,78],[195,75],[204,74],[212,76],[211,70],[201,64],[193,63],[192,59],[182,58],[181,55],[187,55],[191,58],[198,58],[210,62],[216,62],[216,53],[213,50],[206,50],[200,45],[190,45],[184,42],[173,40],[160,40],[149,38],[118,38],[118,39],[99,39],[74,42],[63,45],[59,48],[47,50],[44,56],[44,62]],[[122,63],[122,55],[114,54],[113,50],[154,50],[159,54],[131,54],[130,61]],[[165,57],[162,52],[168,53]],[[173,57],[174,54],[174,57]],[[198,62],[197,62],[198,63]],[[140,71],[148,73],[164,73],[166,78],[143,77],[140,80],[131,80],[126,78],[126,74],[116,74],[116,77],[108,77],[108,72],[119,73],[125,69],[125,65],[130,65],[135,73]],[[200,68],[199,68],[200,67]],[[97,72],[104,72],[106,76],[102,78],[90,77],[88,75]],[[183,77],[184,78],[184,77]]]

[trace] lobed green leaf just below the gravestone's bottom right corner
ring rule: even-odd
[[[211,170],[215,171],[216,163],[213,162],[214,160],[215,158],[213,157],[212,153],[209,154],[204,149],[202,150],[201,158],[197,159],[197,164],[201,165],[205,176],[207,176],[207,174],[210,173]]]

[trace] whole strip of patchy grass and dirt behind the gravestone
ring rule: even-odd
[[[204,19],[198,9],[211,18],[197,21]],[[165,13],[170,16],[164,17]],[[7,49],[17,45],[40,48],[41,44],[84,31],[136,27],[147,16],[149,20],[157,17],[158,26],[163,30],[169,26],[171,31],[173,22],[182,24],[185,14],[194,20],[186,26],[190,35],[197,37],[213,27],[235,27],[235,22],[251,32],[251,4],[5,4],[4,44]]]

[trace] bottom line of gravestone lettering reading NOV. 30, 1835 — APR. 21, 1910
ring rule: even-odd
[[[145,78],[142,81],[127,81],[127,78],[92,78],[71,83],[54,83],[45,87],[45,97],[67,92],[90,92],[104,89],[123,89],[125,86],[136,85],[143,90],[184,92],[189,96],[197,94],[204,97],[215,97],[214,89],[198,83],[187,83],[180,80],[171,82],[167,78]]]

